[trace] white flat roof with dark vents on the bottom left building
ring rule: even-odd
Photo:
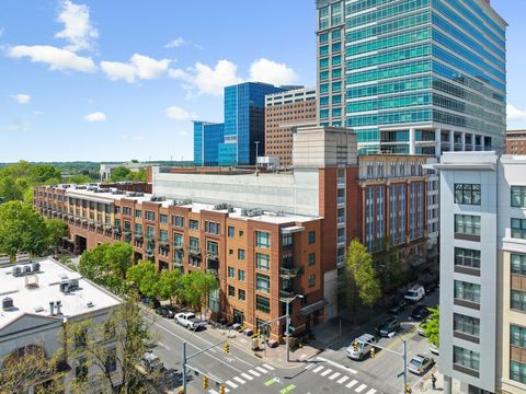
[[[64,317],[82,315],[121,303],[116,296],[50,257],[34,262],[41,265],[38,271],[18,277],[13,276],[16,264],[0,267],[0,300],[8,297],[13,300],[11,309],[3,310],[0,305],[0,329],[24,314],[49,316],[52,301],[60,301]],[[19,263],[19,266],[24,265],[31,263]],[[79,289],[69,293],[60,291],[60,281],[67,279],[79,279]],[[26,286],[27,283],[30,286]]]

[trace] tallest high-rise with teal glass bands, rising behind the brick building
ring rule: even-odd
[[[318,121],[359,152],[503,151],[506,23],[483,0],[317,0]]]

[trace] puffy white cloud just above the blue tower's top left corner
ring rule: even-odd
[[[221,95],[225,86],[242,82],[237,76],[238,66],[228,60],[219,60],[211,68],[201,62],[184,70],[170,70],[169,76],[183,80],[188,90],[197,90],[199,94]]]

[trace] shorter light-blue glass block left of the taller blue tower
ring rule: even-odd
[[[194,165],[219,165],[219,143],[224,141],[225,124],[194,121]]]

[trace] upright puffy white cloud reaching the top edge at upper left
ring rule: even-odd
[[[70,0],[60,1],[60,7],[57,21],[64,23],[64,30],[55,37],[68,40],[70,45],[66,49],[71,51],[93,49],[99,32],[91,25],[89,7]]]

